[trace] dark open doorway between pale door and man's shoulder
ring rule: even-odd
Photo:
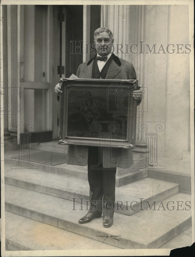
[[[76,46],[83,41],[83,5],[53,6],[53,91],[60,77],[76,75],[78,66],[83,63],[83,53],[76,48],[73,54],[73,42]],[[53,94],[53,140],[58,137],[59,102]]]

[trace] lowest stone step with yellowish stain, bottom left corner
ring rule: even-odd
[[[121,249],[11,212],[5,212],[7,251]]]

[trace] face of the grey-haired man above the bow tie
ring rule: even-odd
[[[108,32],[100,32],[99,35],[96,36],[94,40],[94,44],[96,44],[97,53],[100,56],[107,56],[109,53],[112,52],[112,45],[114,39],[109,37]]]

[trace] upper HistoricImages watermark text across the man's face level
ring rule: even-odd
[[[84,41],[71,41],[72,43],[72,54],[96,54],[97,50],[96,44],[83,44]],[[116,54],[189,54],[191,53],[191,44],[147,44],[144,41],[138,41],[138,44],[108,44],[106,46],[106,50],[108,46],[112,46],[112,51]],[[101,53],[101,52],[100,52]],[[108,54],[110,52],[107,52]]]

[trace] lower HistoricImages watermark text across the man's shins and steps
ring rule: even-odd
[[[92,211],[102,211],[102,205],[106,206],[107,210],[114,210],[115,211],[140,211],[140,210],[168,210],[168,211],[172,211],[172,210],[177,210],[177,211],[181,211],[181,210],[191,210],[191,201],[187,200],[187,201],[181,201],[181,200],[177,200],[177,201],[167,201],[167,203],[163,203],[163,201],[161,200],[160,202],[158,201],[149,201],[149,200],[145,200],[144,198],[139,197],[138,200],[133,200],[133,201],[129,201],[129,200],[125,200],[125,201],[115,201],[115,203],[113,201],[88,201],[88,200],[84,200],[84,197],[79,197],[79,198],[71,198],[73,200],[73,208],[72,210],[88,210],[89,211],[89,206],[90,205],[90,210]],[[79,199],[79,201],[78,201]],[[90,203],[90,204],[89,204]],[[112,208],[109,208],[110,206],[112,206]],[[78,209],[78,207],[80,207]]]

